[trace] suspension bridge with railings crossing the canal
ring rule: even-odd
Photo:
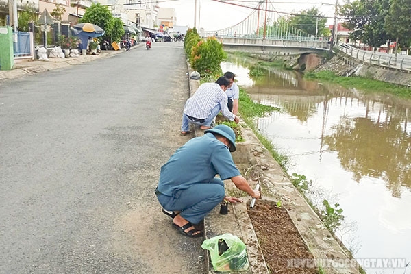
[[[275,11],[269,1],[260,1],[240,23],[205,32],[203,36],[219,38],[228,51],[269,51],[277,54],[329,51],[327,38],[308,34],[292,26]]]

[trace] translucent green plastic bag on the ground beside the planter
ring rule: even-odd
[[[201,247],[210,251],[215,271],[245,271],[249,268],[245,244],[233,234],[226,233],[204,240]]]

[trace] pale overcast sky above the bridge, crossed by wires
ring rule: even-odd
[[[221,1],[233,3],[221,3]],[[260,0],[265,3],[264,0]],[[240,23],[253,11],[251,8],[243,8],[238,5],[256,7],[258,0],[197,0],[197,29],[214,31],[231,27]],[[327,24],[334,21],[335,3],[343,0],[268,0],[269,8],[273,7],[277,12],[297,13],[301,10],[309,10],[316,7],[321,14],[329,17]],[[271,4],[270,4],[271,3]],[[175,8],[177,18],[176,25],[194,27],[195,0],[158,0],[162,8]],[[265,8],[265,5],[264,5]]]

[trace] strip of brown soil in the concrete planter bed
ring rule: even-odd
[[[312,253],[301,238],[284,207],[272,201],[258,200],[248,211],[270,273],[314,274],[314,268],[292,268],[288,262],[312,259]]]

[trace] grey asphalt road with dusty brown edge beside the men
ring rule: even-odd
[[[206,273],[154,194],[186,73],[163,42],[0,83],[0,273]]]

